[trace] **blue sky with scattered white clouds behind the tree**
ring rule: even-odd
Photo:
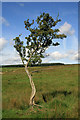
[[[48,57],[43,62],[61,62],[65,64],[78,63],[78,3],[77,2],[3,2],[2,36],[0,35],[0,65],[19,64],[20,57],[13,47],[12,39],[22,33],[22,39],[28,35],[24,21],[28,18],[36,20],[40,13],[49,13],[56,19],[58,12],[62,20],[56,26],[61,33],[67,35],[60,42],[60,46],[49,47],[46,54]],[[36,25],[36,24],[35,24]],[[2,57],[2,61],[1,61]]]

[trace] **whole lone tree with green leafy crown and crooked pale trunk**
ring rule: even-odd
[[[14,47],[21,57],[22,63],[25,66],[25,71],[30,80],[30,85],[32,88],[30,105],[32,106],[36,105],[34,102],[36,88],[32,80],[32,76],[28,70],[28,66],[29,64],[40,64],[42,62],[41,58],[44,58],[43,53],[45,50],[51,45],[59,45],[58,42],[54,43],[54,39],[66,38],[65,34],[59,33],[59,29],[54,29],[57,23],[61,21],[58,17],[59,15],[56,20],[54,20],[49,13],[42,13],[36,19],[37,27],[32,27],[34,20],[30,23],[29,19],[27,19],[27,21],[24,21],[24,24],[26,30],[30,31],[30,34],[25,37],[26,45],[24,45],[24,42],[20,40],[21,35],[13,39],[15,41]],[[28,50],[27,55],[26,49]]]

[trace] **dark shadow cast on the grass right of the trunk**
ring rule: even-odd
[[[43,93],[42,98],[43,98],[44,102],[48,102],[51,99],[51,97],[54,98],[59,94],[63,94],[64,96],[67,96],[67,95],[72,94],[72,92],[71,91],[70,92],[68,92],[68,91],[53,91],[50,93]]]

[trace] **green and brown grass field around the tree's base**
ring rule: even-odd
[[[78,65],[32,67],[37,93],[29,107],[31,87],[24,68],[3,68],[3,118],[77,118]]]

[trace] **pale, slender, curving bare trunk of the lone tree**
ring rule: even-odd
[[[30,105],[35,105],[34,103],[34,98],[35,98],[35,94],[36,94],[36,88],[35,88],[35,85],[34,85],[34,82],[32,80],[32,77],[31,77],[31,74],[29,73],[29,70],[28,70],[28,66],[26,65],[25,66],[25,71],[29,77],[29,80],[30,80],[30,85],[31,85],[31,88],[32,88],[32,93],[31,93],[31,97],[30,97]]]

